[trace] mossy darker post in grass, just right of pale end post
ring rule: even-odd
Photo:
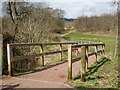
[[[86,74],[86,47],[81,47],[81,81],[85,82],[85,74]]]

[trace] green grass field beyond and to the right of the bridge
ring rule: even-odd
[[[67,40],[92,40],[105,43],[107,58],[95,62],[89,69],[86,82],[80,81],[80,75],[69,82],[76,89],[80,88],[117,88],[118,87],[118,61],[114,58],[115,37],[98,36],[72,32],[64,36]]]

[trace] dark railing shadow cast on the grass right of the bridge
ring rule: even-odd
[[[94,64],[92,64],[90,67],[88,67],[88,71],[86,72],[86,76],[89,76],[90,74],[93,74],[95,72],[98,71],[98,69],[103,65],[105,64],[107,61],[110,61],[110,59],[106,58],[106,57],[103,57],[101,58],[99,61],[95,62]],[[102,78],[102,77],[94,77],[94,78],[88,78],[89,80],[93,80],[95,78]],[[76,79],[80,79],[80,75],[76,76],[74,78],[74,80]]]

